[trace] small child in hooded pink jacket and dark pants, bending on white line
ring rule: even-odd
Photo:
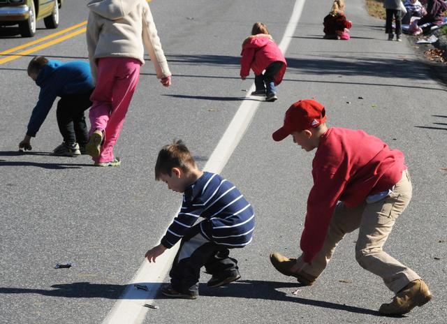
[[[277,100],[277,86],[286,72],[286,59],[267,27],[262,22],[256,22],[251,29],[251,36],[242,43],[242,59],[240,60],[240,78],[245,80],[254,72],[256,91],[252,96],[265,96],[265,101]]]

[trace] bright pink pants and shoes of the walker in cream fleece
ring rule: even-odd
[[[110,162],[115,159],[113,147],[122,130],[126,112],[129,109],[133,92],[140,78],[141,63],[137,59],[109,58],[115,61],[116,74],[112,88],[112,109],[104,129],[104,142],[96,163]]]

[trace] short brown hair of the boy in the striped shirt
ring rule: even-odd
[[[161,148],[155,163],[155,179],[159,181],[161,175],[170,176],[173,168],[186,173],[197,168],[196,161],[182,140],[174,140],[173,144]]]

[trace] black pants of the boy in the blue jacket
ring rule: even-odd
[[[91,91],[87,94],[68,94],[57,102],[57,126],[64,142],[73,145],[78,142],[85,146],[89,141],[89,131],[85,123],[85,110],[91,107]]]

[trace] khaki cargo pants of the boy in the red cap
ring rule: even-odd
[[[402,265],[382,249],[393,229],[395,220],[409,204],[411,191],[411,179],[408,171],[405,170],[393,192],[383,200],[372,204],[362,202],[353,208],[339,202],[332,216],[323,248],[312,260],[312,264],[305,265],[302,270],[318,277],[325,270],[335,247],[344,235],[358,228],[356,260],[360,266],[381,277],[394,293],[399,292],[410,281],[420,279],[416,272]],[[304,260],[300,256],[298,266],[302,263]]]

